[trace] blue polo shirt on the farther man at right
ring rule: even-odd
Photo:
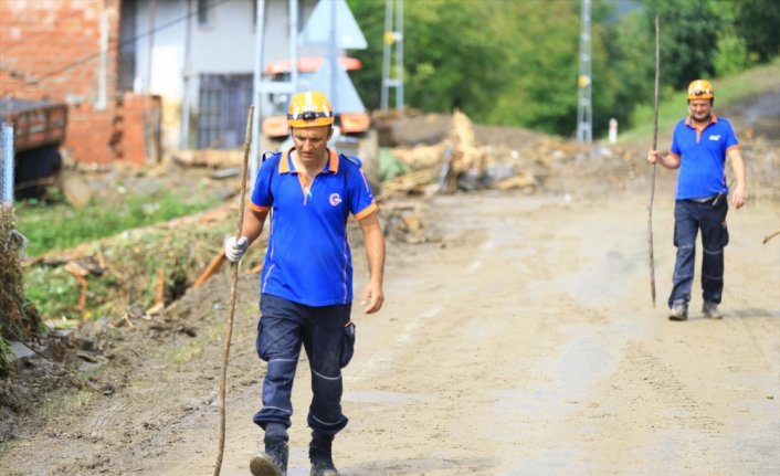
[[[737,147],[731,123],[715,114],[702,129],[696,128],[691,116],[677,123],[670,150],[679,158],[677,200],[728,193],[724,165],[726,154]]]

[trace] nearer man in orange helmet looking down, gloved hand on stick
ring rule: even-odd
[[[266,155],[242,236],[224,245],[229,260],[241,260],[271,214],[256,340],[267,370],[263,406],[253,419],[265,431],[265,452],[252,458],[250,469],[255,476],[286,474],[291,394],[303,346],[312,371],[310,474],[335,476],[331,443],[348,421],[341,412],[341,369],[355,345],[349,214],[360,224],[368,257],[369,281],[361,296],[366,314],[377,313],[384,299],[384,239],[359,159],[327,147],[334,133],[327,97],[318,92],[294,95],[287,124],[294,147]]]

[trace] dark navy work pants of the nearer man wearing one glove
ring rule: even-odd
[[[256,348],[267,362],[263,379],[263,408],[254,422],[292,424],[292,392],[303,345],[312,369],[308,425],[334,436],[347,425],[341,413],[341,368],[349,363],[355,345],[351,305],[310,307],[263,294],[260,300]]]

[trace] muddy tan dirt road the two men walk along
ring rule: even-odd
[[[662,187],[654,207],[655,309],[645,193],[426,202],[419,213],[438,239],[391,244],[386,307],[354,316],[351,421],[334,449],[342,474],[779,474],[780,239],[761,241],[780,205],[729,212],[725,318],[702,318],[696,285],[691,320],[671,322],[671,197]],[[212,474],[226,289],[220,276],[188,293],[165,318],[189,331],[137,349],[147,364],[120,391],[71,400],[11,443],[0,474]],[[256,276],[239,295],[223,475],[247,475],[261,448]],[[308,395],[303,361],[291,476],[308,474]]]

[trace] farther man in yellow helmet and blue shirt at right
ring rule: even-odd
[[[728,244],[729,188],[726,183],[726,158],[731,162],[736,187],[731,204],[745,205],[747,184],[745,162],[731,124],[713,113],[715,91],[712,84],[697,80],[688,86],[688,117],[674,128],[670,154],[647,152],[651,163],[679,169],[674,208],[674,245],[677,257],[668,298],[671,320],[688,318],[688,303],[694,281],[696,235],[702,231],[702,313],[720,319],[718,309],[724,288],[724,247]]]

